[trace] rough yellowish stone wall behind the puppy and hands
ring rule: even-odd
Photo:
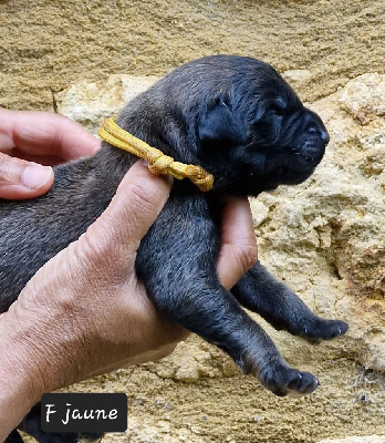
[[[312,347],[258,319],[322,387],[278,399],[192,337],[158,363],[71,387],[127,393],[128,431],[103,442],[385,442],[384,12],[373,0],[0,0],[1,105],[95,132],[149,74],[227,52],[272,62],[331,135],[306,183],[251,200],[261,260],[320,315],[350,322]]]

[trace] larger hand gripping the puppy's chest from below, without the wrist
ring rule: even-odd
[[[45,389],[159,359],[187,337],[180,326],[157,315],[135,272],[141,240],[169,188],[169,178],[154,176],[136,163],[102,216],[44,265],[0,317],[0,326],[10,322],[7,331],[14,319],[23,331],[27,328],[22,348],[46,360],[39,368]],[[223,222],[218,274],[230,288],[256,260],[248,202],[229,203]]]

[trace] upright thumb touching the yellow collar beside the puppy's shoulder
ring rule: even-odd
[[[87,229],[87,243],[97,241],[97,250],[118,249],[135,254],[142,238],[163,209],[171,188],[171,177],[154,175],[143,162],[136,162],[119,184],[101,217]]]

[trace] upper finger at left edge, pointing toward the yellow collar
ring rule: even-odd
[[[63,115],[0,109],[0,151],[67,161],[92,155],[98,147],[97,138]]]

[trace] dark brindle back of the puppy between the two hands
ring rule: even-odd
[[[97,156],[56,167],[52,189],[37,199],[0,200],[0,312],[108,205],[116,184],[98,166]]]

